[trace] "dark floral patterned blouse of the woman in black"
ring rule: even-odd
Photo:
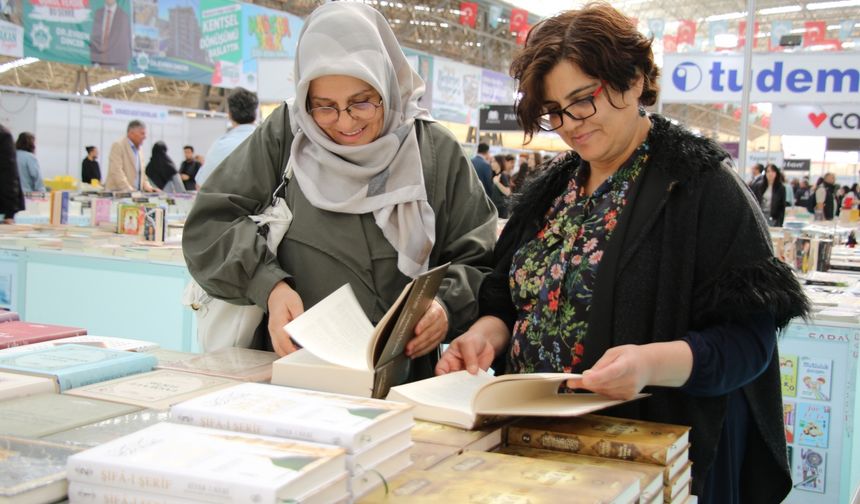
[[[647,160],[646,141],[591,195],[585,193],[591,168],[582,162],[553,201],[543,228],[515,252],[510,288],[517,321],[509,373],[582,371],[578,364],[588,344],[600,259]]]

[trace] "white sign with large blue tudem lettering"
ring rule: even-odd
[[[750,102],[857,103],[857,53],[762,53],[752,56]],[[660,81],[664,103],[740,102],[742,54],[667,54]]]

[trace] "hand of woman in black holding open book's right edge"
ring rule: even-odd
[[[610,348],[582,378],[567,381],[570,388],[584,388],[612,399],[632,399],[649,384],[651,369],[643,359],[642,347],[621,345]]]

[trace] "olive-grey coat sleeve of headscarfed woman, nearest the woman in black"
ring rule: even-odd
[[[458,336],[478,317],[478,290],[492,271],[497,218],[475,170],[457,140],[444,127],[426,124],[422,162],[428,195],[436,210],[436,247],[431,264],[451,262],[438,298],[448,312],[449,337]],[[429,140],[429,141],[428,141]]]

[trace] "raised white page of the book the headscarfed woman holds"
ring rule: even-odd
[[[373,325],[349,284],[329,294],[284,329],[320,359],[352,369],[373,370],[367,362]]]

